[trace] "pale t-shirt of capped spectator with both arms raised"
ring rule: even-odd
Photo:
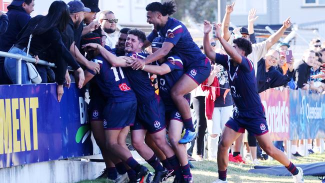
[[[229,40],[227,41],[230,45],[232,45],[232,41],[234,39],[234,35],[231,34]],[[247,58],[250,59],[254,64],[254,70],[255,70],[255,76],[257,73],[257,62],[265,56],[267,53],[267,46],[266,46],[266,40],[258,43],[251,44],[251,53],[248,54]]]

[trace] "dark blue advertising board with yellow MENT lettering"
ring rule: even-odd
[[[0,168],[91,155],[86,103],[73,84],[0,85]]]

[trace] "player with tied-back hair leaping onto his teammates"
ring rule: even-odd
[[[147,22],[153,24],[154,29],[144,42],[144,47],[151,44],[154,37],[164,37],[162,47],[146,58],[132,62],[132,68],[141,69],[145,64],[151,63],[166,56],[177,55],[183,61],[184,74],[171,88],[171,98],[179,110],[186,129],[185,134],[179,143],[191,141],[196,133],[193,128],[188,101],[184,95],[189,93],[210,74],[210,62],[194,43],[186,26],[179,20],[169,17],[175,12],[175,3],[152,2],[145,9],[147,10]]]

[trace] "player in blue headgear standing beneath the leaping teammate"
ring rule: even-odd
[[[153,39],[151,44],[153,53],[161,48],[163,41],[163,37],[155,37]],[[183,175],[182,179],[175,177],[173,182],[192,182],[193,178],[187,161],[186,148],[183,144],[178,143],[183,128],[183,119],[170,95],[172,86],[184,73],[183,62],[179,56],[169,55],[168,57],[160,58],[154,63],[152,65],[145,65],[143,70],[157,75],[159,96],[165,104],[165,119],[168,127],[169,141],[180,162]]]

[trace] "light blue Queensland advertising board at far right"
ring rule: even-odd
[[[290,139],[325,137],[325,95],[290,90]]]

